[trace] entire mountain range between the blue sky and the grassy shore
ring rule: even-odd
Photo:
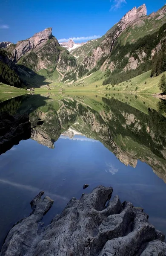
[[[151,15],[145,4],[134,7],[101,38],[81,45],[72,39],[59,44],[47,28],[5,47],[0,49],[0,81],[17,87],[72,84],[97,70],[103,72],[103,85],[149,70],[157,76],[166,71],[166,5]]]

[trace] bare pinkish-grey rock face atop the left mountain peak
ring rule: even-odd
[[[44,29],[41,32],[34,34],[31,38],[23,41],[18,41],[16,46],[12,49],[12,61],[17,62],[23,55],[32,49],[46,43],[46,41],[52,36],[52,28]]]

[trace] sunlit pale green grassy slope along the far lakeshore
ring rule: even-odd
[[[54,92],[59,91],[64,88],[65,92],[86,92],[92,91],[97,93],[121,93],[121,94],[154,94],[160,93],[158,83],[160,81],[160,76],[150,78],[151,70],[147,71],[139,76],[136,76],[128,81],[122,82],[120,84],[112,86],[111,84],[102,85],[103,80],[105,79],[105,73],[102,73],[101,70],[97,70],[95,73],[92,73],[90,76],[84,76],[84,78],[79,79],[73,84],[64,84],[63,82],[54,82],[50,84],[51,90],[47,88],[36,88],[35,91],[38,93],[43,92]],[[166,72],[165,72],[166,74]],[[137,87],[137,90],[136,90]]]

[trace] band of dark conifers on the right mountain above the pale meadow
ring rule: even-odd
[[[135,76],[142,74],[148,70],[153,69],[152,76],[157,75],[165,71],[166,69],[166,46],[164,42],[164,36],[166,35],[166,23],[160,27],[159,31],[146,35],[143,38],[138,39],[135,43],[121,45],[118,41],[115,43],[114,49],[109,57],[109,63],[113,62],[116,68],[112,71],[110,76],[103,81],[103,85],[106,84],[119,84],[120,82],[132,79]],[[162,41],[163,40],[163,41]],[[153,60],[151,59],[152,50],[161,42],[163,49],[159,54],[155,54]],[[138,59],[139,52],[145,52],[143,64],[135,70],[123,70],[129,62],[129,57],[133,56]],[[125,56],[129,54],[129,57]],[[152,65],[153,64],[153,65]],[[153,66],[153,68],[152,68]],[[157,71],[156,71],[157,70]]]

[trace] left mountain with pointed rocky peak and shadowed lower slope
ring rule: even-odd
[[[5,49],[0,49],[0,66],[2,70],[8,70],[8,65],[14,73],[22,80],[23,84],[35,86],[37,82],[41,85],[45,77],[44,70],[49,76],[55,70],[64,76],[76,69],[75,58],[69,51],[58,43],[52,35],[52,28],[44,29],[31,38],[10,44]],[[37,74],[40,71],[40,74]],[[6,71],[7,72],[7,71]],[[3,73],[0,73],[0,79]],[[7,84],[13,85],[12,81],[6,79]],[[12,77],[11,79],[12,80]],[[5,81],[4,81],[5,82]]]

